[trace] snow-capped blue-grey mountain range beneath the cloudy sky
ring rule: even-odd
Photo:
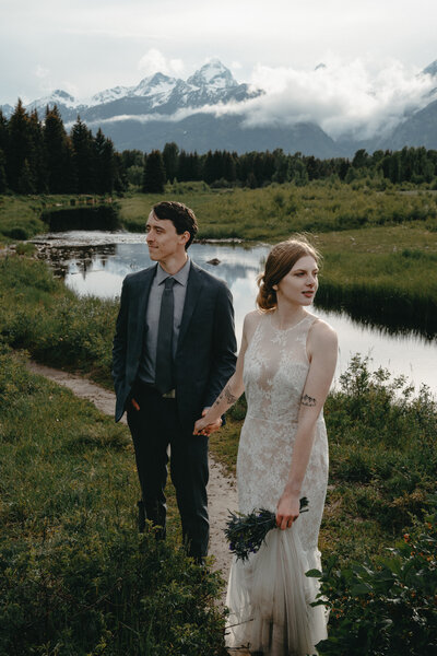
[[[324,65],[317,67],[326,68]],[[437,60],[423,73],[436,79],[436,89],[424,108],[413,108],[383,138],[357,140],[346,132],[332,139],[316,122],[302,121],[286,126],[247,125],[247,101],[264,94],[262,89],[238,83],[217,59],[202,66],[187,80],[163,73],[144,78],[135,86],[115,86],[79,102],[66,91],[27,105],[43,118],[46,107],[58,106],[66,127],[78,115],[93,131],[102,127],[117,150],[138,149],[150,152],[175,141],[180,149],[199,153],[227,150],[238,153],[282,148],[317,157],[352,156],[361,148],[400,150],[404,145],[437,149]],[[13,107],[1,106],[8,118]],[[222,110],[221,110],[222,109]]]

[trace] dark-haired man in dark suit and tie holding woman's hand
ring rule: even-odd
[[[188,553],[206,555],[208,435],[194,421],[235,370],[234,311],[227,285],[190,260],[198,226],[189,208],[160,202],[146,223],[152,267],[126,277],[113,350],[116,421],[127,410],[144,518],[165,536],[167,447]]]

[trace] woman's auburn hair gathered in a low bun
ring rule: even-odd
[[[310,255],[317,263],[321,260],[320,253],[304,235],[296,235],[280,242],[269,253],[264,271],[257,278],[259,292],[257,306],[262,312],[274,309],[277,305],[276,292],[273,289],[291,271],[302,257]]]

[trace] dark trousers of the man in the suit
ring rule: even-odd
[[[145,385],[135,385],[135,410],[128,403],[128,424],[135,450],[145,516],[163,527],[165,536],[168,452],[170,445],[170,475],[182,524],[182,537],[188,553],[201,560],[208,553],[209,520],[206,484],[208,437],[187,434],[182,430],[175,399],[163,398]]]

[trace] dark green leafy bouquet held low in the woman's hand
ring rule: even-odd
[[[300,513],[308,511],[308,500],[300,499]],[[237,559],[246,560],[250,553],[257,553],[265,536],[272,528],[276,527],[276,515],[265,508],[253,511],[249,515],[232,513],[224,529],[229,550]]]

